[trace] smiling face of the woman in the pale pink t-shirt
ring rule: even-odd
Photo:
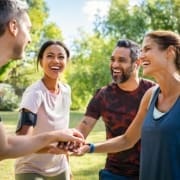
[[[56,80],[67,65],[67,53],[62,46],[52,44],[45,49],[40,64],[44,77]]]

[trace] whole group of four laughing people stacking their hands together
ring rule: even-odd
[[[0,9],[3,66],[23,58],[32,25],[24,1],[0,0]],[[23,94],[16,135],[6,135],[0,122],[0,160],[17,158],[15,179],[69,180],[70,149],[77,156],[108,153],[99,172],[101,180],[180,179],[179,34],[149,32],[141,50],[129,39],[119,40],[110,57],[112,82],[97,90],[73,129],[69,128],[71,89],[59,80],[69,57],[63,42],[46,41],[37,56],[43,77]],[[140,65],[156,83],[138,76]],[[107,140],[85,142],[100,117]]]

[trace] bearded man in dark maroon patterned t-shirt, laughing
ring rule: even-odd
[[[138,77],[139,47],[131,40],[119,40],[110,57],[113,82],[99,89],[87,106],[77,129],[86,138],[102,117],[107,139],[123,134],[134,119],[141,98],[153,82]],[[132,149],[108,154],[100,180],[130,180],[139,176],[140,142]]]

